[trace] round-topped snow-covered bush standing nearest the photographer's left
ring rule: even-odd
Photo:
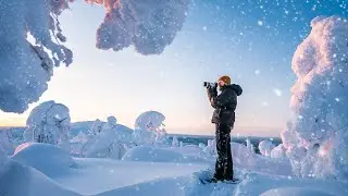
[[[135,121],[134,142],[136,145],[156,145],[167,143],[166,133],[161,127],[165,117],[157,111],[141,113]],[[158,140],[160,139],[160,140]]]

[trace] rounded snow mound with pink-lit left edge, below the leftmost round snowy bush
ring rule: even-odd
[[[33,167],[48,176],[64,174],[76,166],[66,151],[50,144],[22,144],[15,149],[12,159]]]

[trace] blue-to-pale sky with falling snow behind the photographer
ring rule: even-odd
[[[202,82],[227,74],[244,88],[234,132],[278,135],[289,118],[297,45],[309,34],[313,17],[347,16],[346,10],[339,0],[195,0],[173,44],[160,56],[144,57],[133,48],[98,50],[96,29],[104,10],[76,2],[60,20],[74,63],[55,70],[39,102],[66,105],[73,121],[115,115],[128,126],[141,112],[158,110],[166,115],[169,132],[213,134]],[[29,110],[0,113],[0,123],[23,125]]]

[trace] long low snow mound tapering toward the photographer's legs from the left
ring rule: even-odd
[[[185,156],[170,148],[137,146],[129,149],[122,158],[124,161],[147,162],[200,162],[207,161],[198,156]]]

